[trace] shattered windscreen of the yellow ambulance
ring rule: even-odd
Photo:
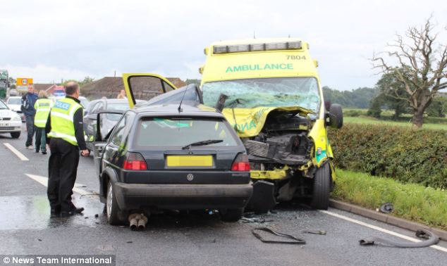
[[[300,106],[317,113],[320,98],[314,77],[272,77],[209,82],[202,86],[203,101],[215,106],[220,94],[226,94],[226,108]]]

